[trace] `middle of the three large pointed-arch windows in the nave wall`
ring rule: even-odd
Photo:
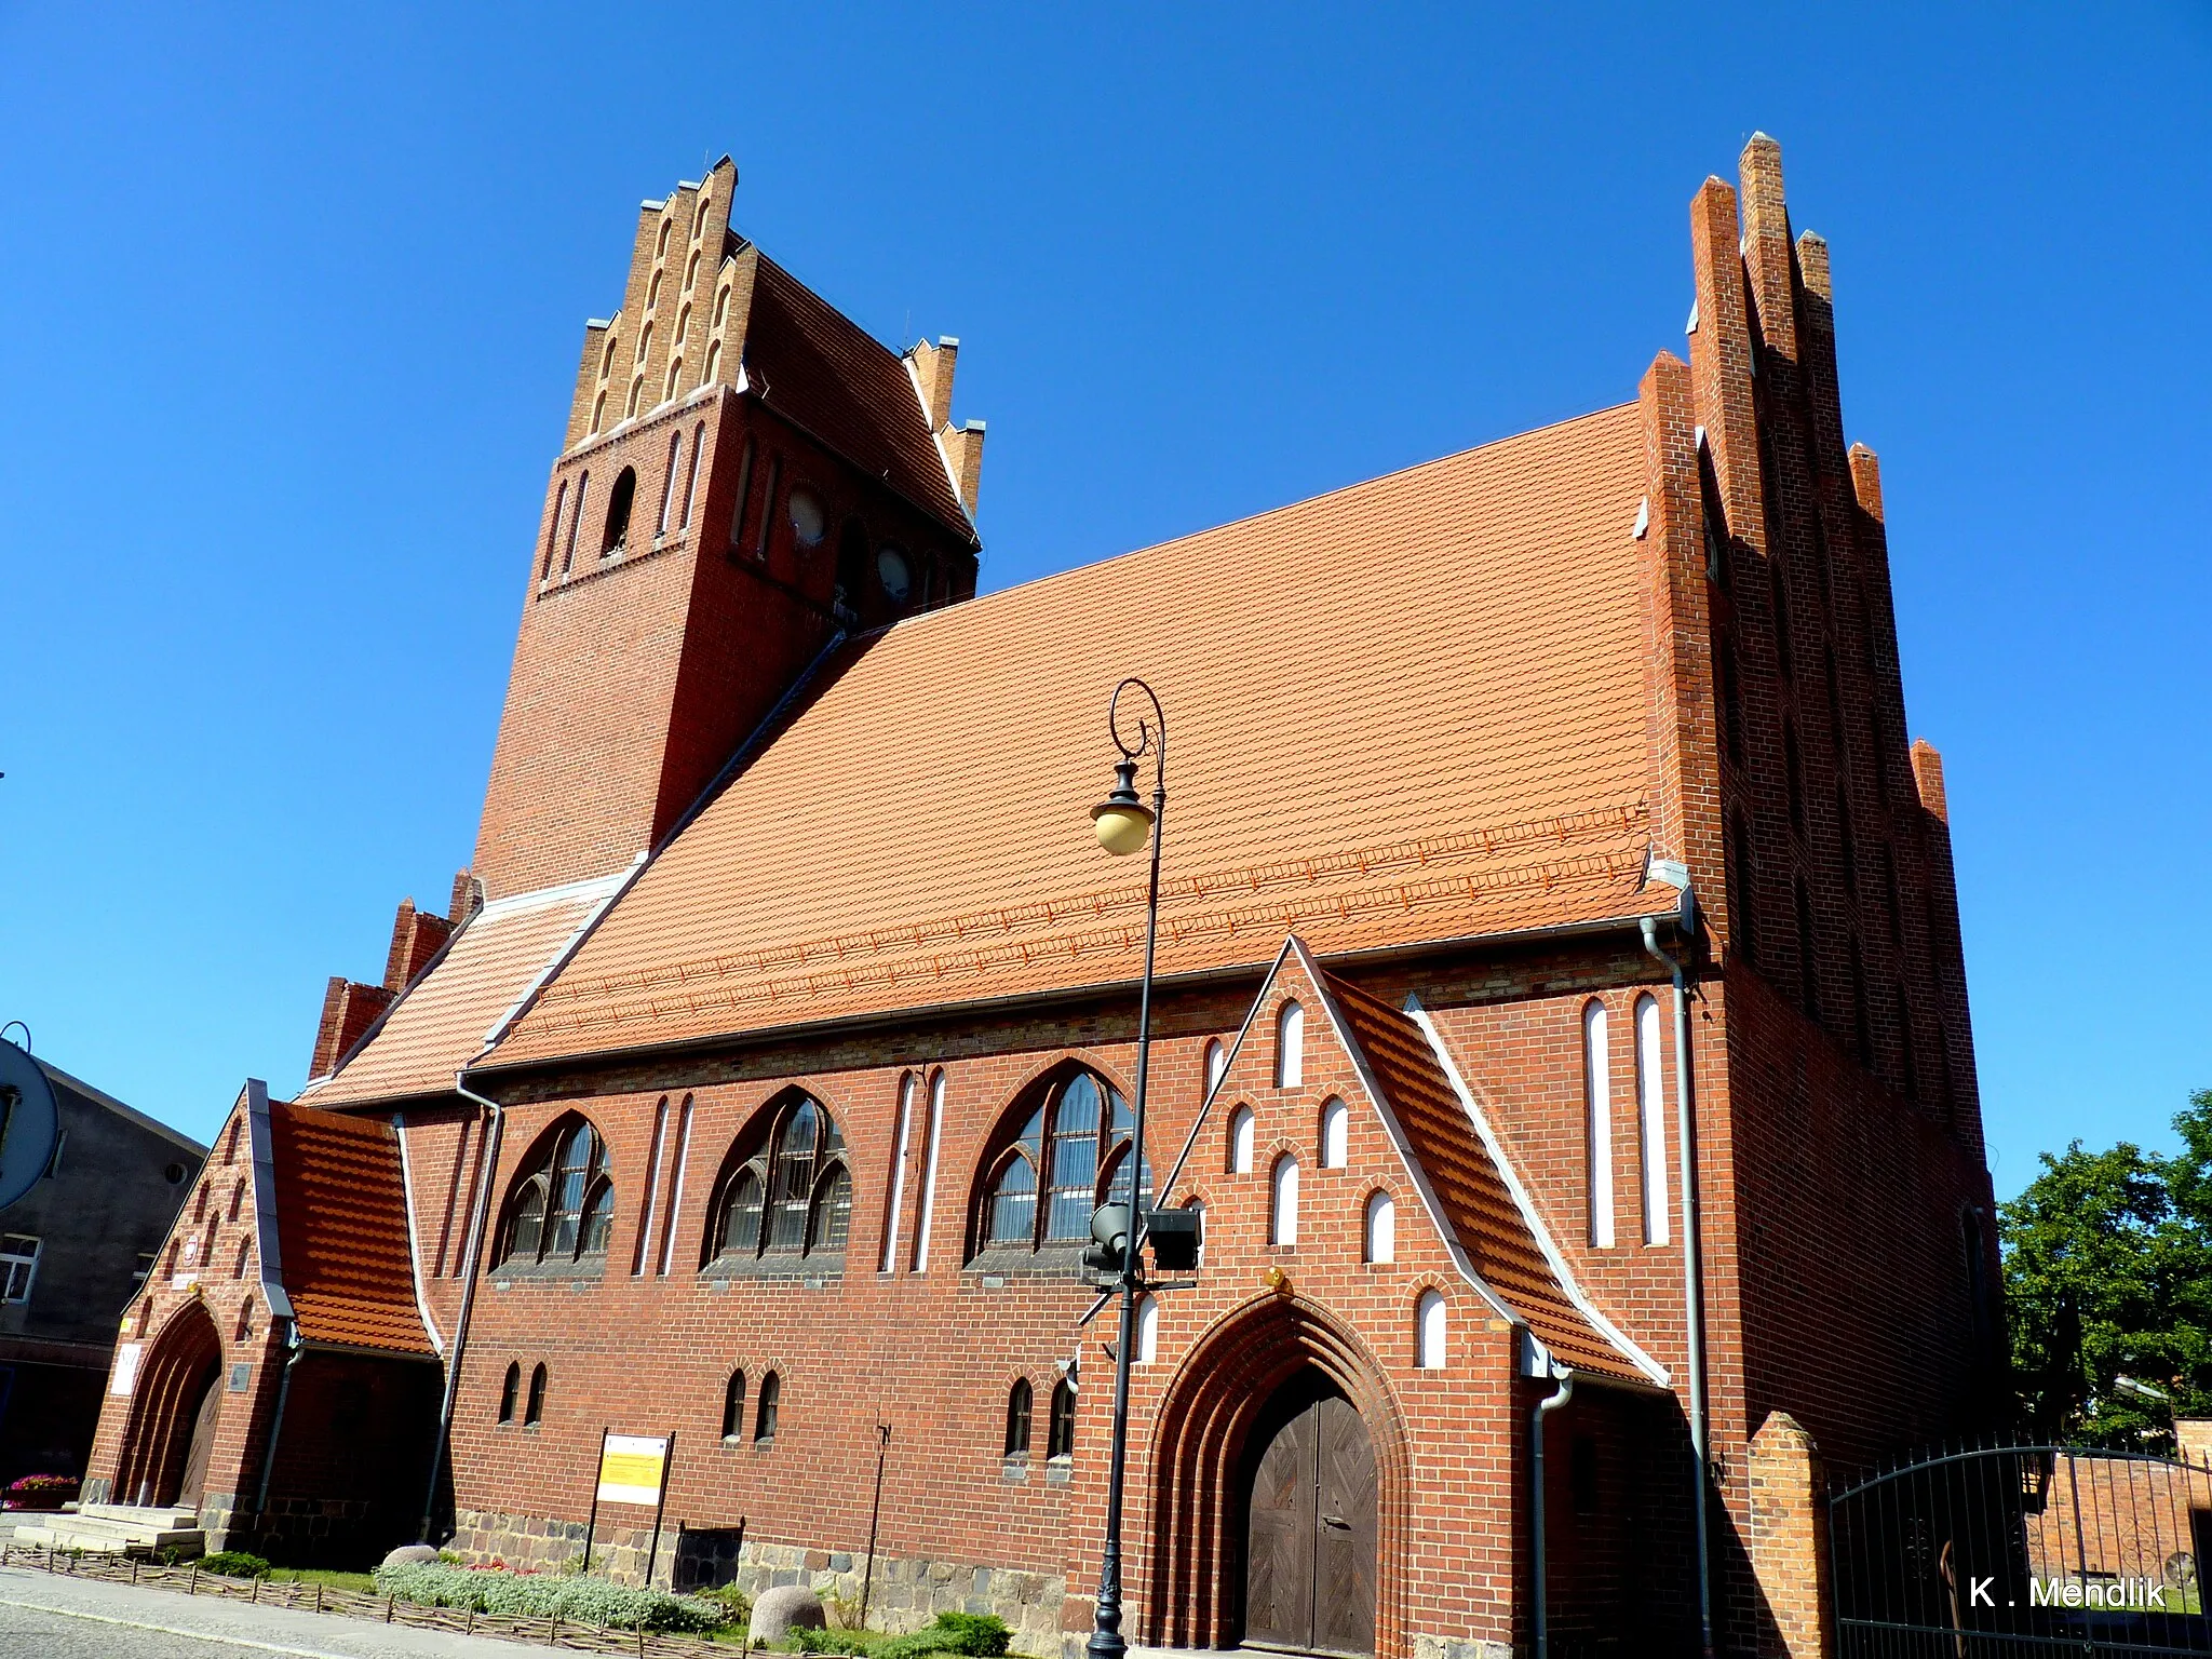
[[[790,1093],[754,1119],[754,1133],[723,1164],[701,1265],[750,1256],[841,1259],[849,1230],[845,1137],[818,1099]]]

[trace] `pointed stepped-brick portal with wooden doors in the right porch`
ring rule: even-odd
[[[1152,1453],[1146,1644],[1402,1650],[1411,1449],[1352,1332],[1248,1305],[1183,1360]]]

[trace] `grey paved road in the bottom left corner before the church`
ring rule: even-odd
[[[529,1648],[332,1613],[0,1568],[0,1659],[515,1659]]]

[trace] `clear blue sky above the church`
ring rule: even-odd
[[[467,863],[635,206],[960,334],[987,586],[1619,403],[1783,142],[2000,1192],[2212,1086],[2212,13],[0,4],[0,1020],[206,1137]],[[1343,580],[1356,582],[1356,571]]]

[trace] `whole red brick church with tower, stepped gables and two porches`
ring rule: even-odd
[[[639,212],[471,869],[332,980],[296,1102],[243,1091],[88,1495],[637,1573],[599,1442],[672,1431],[659,1573],[1079,1641],[1146,920],[1088,807],[1144,675],[1146,1175],[1203,1252],[1137,1321],[1128,1635],[1694,1652],[1703,1584],[1719,1648],[1814,1650],[1814,1449],[1984,1422],[2002,1314],[1778,148],[1697,192],[1688,361],[1626,403],[984,597],[958,343],[874,341],[734,186]]]

